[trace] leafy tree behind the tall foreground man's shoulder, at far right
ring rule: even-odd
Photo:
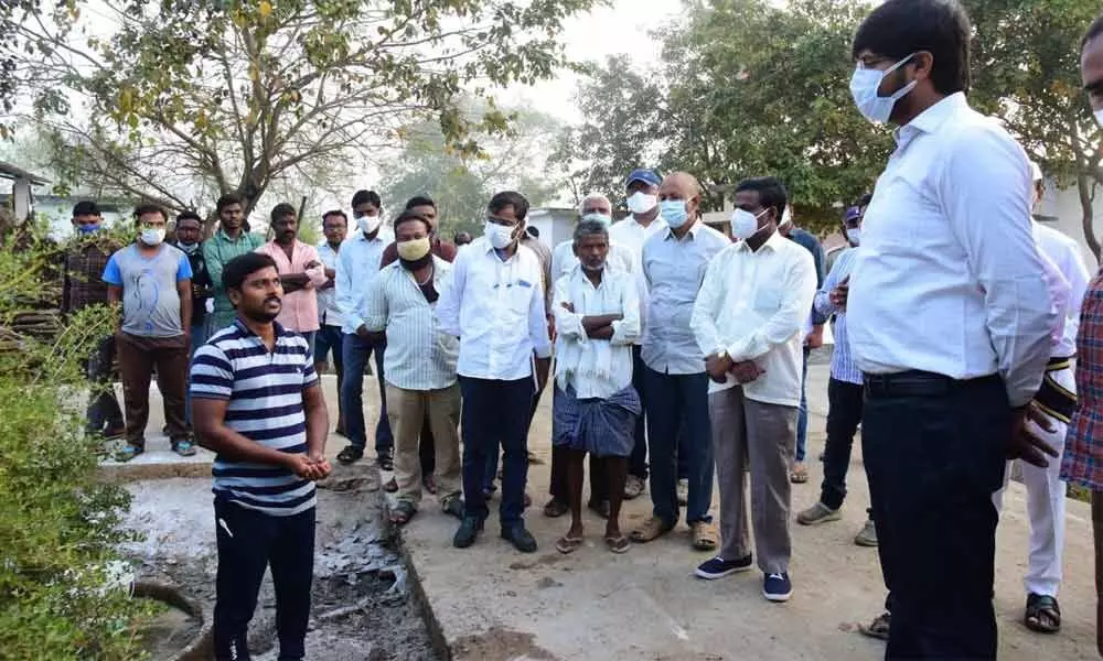
[[[1080,39],[1099,6],[1077,0],[963,4],[975,28],[971,100],[999,116],[1060,184],[1077,186],[1084,239],[1099,260],[1092,204],[1103,183],[1103,136],[1080,85]]]

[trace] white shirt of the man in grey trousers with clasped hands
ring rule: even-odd
[[[799,407],[804,365],[802,328],[816,295],[816,267],[808,251],[777,231],[759,249],[747,241],[713,258],[705,272],[693,326],[706,356],[753,360],[765,372],[743,383],[743,393],[768,404]],[[735,377],[709,392],[737,386]]]

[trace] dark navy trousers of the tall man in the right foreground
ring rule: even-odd
[[[863,454],[891,593],[886,659],[995,659],[997,512],[1011,412],[997,377],[868,377]]]

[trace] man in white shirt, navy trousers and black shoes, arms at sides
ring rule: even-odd
[[[458,549],[475,542],[489,514],[486,459],[501,445],[502,538],[523,553],[536,551],[522,518],[527,430],[533,395],[547,382],[552,342],[539,260],[520,246],[527,214],[528,201],[520,193],[494,195],[483,238],[457,257],[452,284],[437,304],[441,329],[460,338],[464,511],[452,540]]]

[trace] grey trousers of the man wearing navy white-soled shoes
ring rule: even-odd
[[[791,485],[797,407],[748,399],[741,386],[708,395],[716,477],[720,487],[720,557],[751,554],[747,527],[747,467],[758,566],[765,574],[789,571]]]

